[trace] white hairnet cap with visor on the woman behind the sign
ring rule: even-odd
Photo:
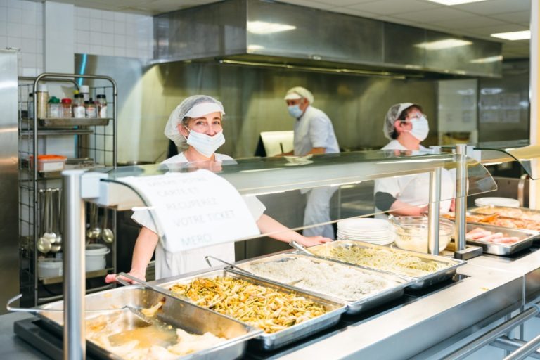
[[[165,136],[174,141],[176,146],[180,146],[181,143],[186,141],[184,136],[178,131],[178,124],[186,117],[200,117],[210,113],[219,111],[221,115],[225,114],[223,105],[207,95],[193,95],[190,96],[176,106],[169,115],[169,120],[165,124]]]

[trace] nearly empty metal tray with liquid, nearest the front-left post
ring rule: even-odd
[[[163,299],[165,299],[165,304],[162,309],[158,311],[158,314],[156,314],[160,321],[174,326],[175,328],[182,328],[188,333],[203,334],[210,332],[214,333],[214,335],[229,339],[214,345],[214,347],[181,356],[179,359],[237,359],[244,354],[248,340],[261,333],[261,330],[240,323],[240,321],[217,314],[216,312],[204,309],[203,307],[198,307],[190,302],[184,302],[175,297],[162,295],[140,285],[131,285],[86,295],[86,309],[120,309],[124,307],[124,305],[135,308],[150,307]],[[58,301],[41,305],[39,308],[63,309],[63,306],[63,301]],[[122,311],[122,313],[120,313],[120,311]],[[119,313],[122,316],[125,316],[126,328],[132,326],[134,321],[139,321],[129,309],[113,312],[86,312],[86,319],[91,319],[94,316],[103,314],[105,314],[105,316],[110,316],[111,314]],[[57,333],[62,333],[63,312],[46,312],[37,314],[37,316],[44,320],[47,328],[56,331]],[[115,330],[120,332],[122,328]],[[119,356],[97,345],[96,342],[89,340],[86,344],[89,352],[99,358],[120,359]]]

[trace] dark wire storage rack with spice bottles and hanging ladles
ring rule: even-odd
[[[91,82],[90,96],[105,94],[108,99],[107,118],[39,118],[37,117],[37,98],[29,101],[29,94],[37,93],[38,84],[70,84],[73,90],[79,89],[77,80]],[[44,229],[41,222],[43,201],[39,192],[46,188],[62,187],[60,172],[39,172],[37,161],[30,158],[46,153],[53,139],[68,143],[67,149],[75,158],[75,164],[66,167],[96,169],[98,167],[117,167],[117,85],[114,79],[98,75],[75,75],[43,73],[37,77],[19,77],[19,236],[20,236],[20,292],[23,304],[35,306],[44,302],[58,300],[62,295],[62,276],[39,278],[37,274],[37,248],[39,235]],[[33,116],[32,115],[33,110]],[[73,139],[70,142],[70,138]],[[49,141],[48,141],[49,140]],[[58,150],[57,150],[58,151]],[[69,157],[68,157],[69,158]],[[69,163],[69,160],[68,160]],[[102,217],[108,211],[108,228],[116,233],[116,212],[103,208]],[[58,217],[60,219],[60,217]],[[87,219],[86,223],[89,224]],[[98,221],[101,224],[101,221]],[[60,228],[60,227],[59,227]],[[103,290],[101,279],[108,270],[116,271],[116,243],[111,248],[105,269],[89,271],[86,279],[89,292]],[[99,279],[99,280],[98,280]]]

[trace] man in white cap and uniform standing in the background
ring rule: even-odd
[[[302,86],[287,91],[285,101],[290,116],[295,121],[294,150],[285,155],[307,155],[339,153],[340,146],[328,115],[314,108],[313,94]],[[314,188],[307,195],[304,226],[323,224],[330,221],[330,198],[337,188]],[[307,227],[305,236],[323,235],[334,238],[331,224]]]

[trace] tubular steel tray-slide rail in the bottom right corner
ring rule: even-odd
[[[504,345],[503,349],[514,349],[515,351],[512,354],[506,356],[504,360],[525,359],[530,354],[536,352],[536,349],[540,347],[540,335],[537,335],[529,342],[514,342],[514,340],[510,340],[503,335],[508,333],[516,326],[520,326],[522,325],[522,323],[525,323],[525,321],[539,315],[540,302],[533,304],[531,307],[529,307],[529,309],[520,312],[520,314],[518,315],[513,316],[512,318],[510,318],[510,320],[501,323],[501,325],[497,326],[493,330],[490,330],[479,338],[471,340],[467,344],[463,345],[463,347],[445,356],[444,360],[465,359],[465,357],[473,354],[473,352],[476,352],[478,349],[484,347],[485,345],[494,345],[497,347],[502,347],[502,345]],[[492,344],[493,342],[496,342],[496,345]],[[538,358],[540,359],[540,354],[535,355],[538,356]]]

